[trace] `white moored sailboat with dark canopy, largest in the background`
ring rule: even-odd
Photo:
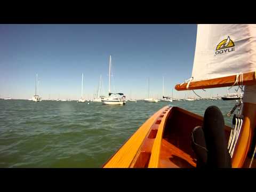
[[[101,101],[103,105],[125,105],[126,101],[123,93],[111,93],[110,76],[111,76],[111,55],[109,56],[108,97],[101,99]]]

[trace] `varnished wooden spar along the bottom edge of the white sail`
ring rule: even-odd
[[[186,88],[187,83],[182,85],[175,85],[175,90],[186,91],[186,90],[196,90],[196,89],[209,89],[217,87],[232,86],[236,81],[236,75],[231,75],[227,77],[213,78],[204,81],[190,82],[188,89]],[[243,74],[243,85],[253,85],[256,84],[256,73],[255,71]],[[241,85],[240,76],[238,77],[238,83],[236,85]]]

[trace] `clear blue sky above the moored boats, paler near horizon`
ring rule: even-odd
[[[111,91],[128,98],[194,97],[174,86],[191,76],[196,25],[0,25],[0,97],[30,99],[35,73],[43,99],[78,99],[84,73],[84,97],[92,98],[102,75],[108,90],[109,55],[113,61]],[[227,88],[196,91],[202,97],[223,95]],[[234,89],[230,92],[234,92]]]

